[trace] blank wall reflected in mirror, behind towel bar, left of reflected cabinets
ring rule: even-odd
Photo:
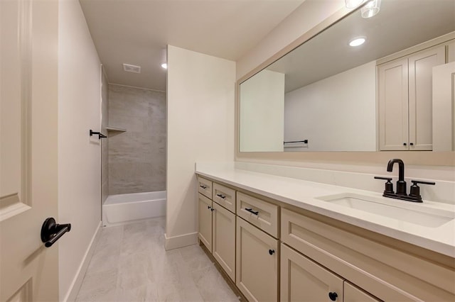
[[[285,150],[376,151],[375,83],[373,61],[285,94],[284,140],[309,140]]]

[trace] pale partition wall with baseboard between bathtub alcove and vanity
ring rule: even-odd
[[[166,249],[197,237],[196,162],[234,160],[235,62],[168,46]]]

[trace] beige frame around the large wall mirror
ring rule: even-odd
[[[406,164],[424,166],[449,166],[455,167],[455,152],[434,152],[434,151],[363,151],[363,152],[240,152],[240,84],[245,82],[262,69],[271,65],[279,58],[287,55],[299,45],[310,40],[321,31],[335,25],[358,9],[346,9],[345,7],[336,11],[318,25],[311,28],[299,38],[286,47],[282,48],[261,65],[245,74],[235,83],[235,161],[286,161],[286,162],[323,162],[326,164],[385,164],[391,158],[400,158]]]

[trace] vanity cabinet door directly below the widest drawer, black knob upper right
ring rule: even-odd
[[[237,217],[236,282],[248,301],[278,301],[278,240]]]

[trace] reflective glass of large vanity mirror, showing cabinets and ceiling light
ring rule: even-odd
[[[454,15],[382,0],[323,30],[240,84],[240,152],[454,150]]]

